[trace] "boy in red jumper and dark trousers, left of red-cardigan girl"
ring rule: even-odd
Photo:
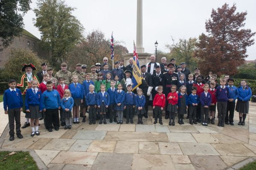
[[[154,109],[154,113],[155,113],[154,124],[157,123],[157,117],[158,117],[160,125],[163,125],[162,112],[163,112],[163,108],[165,107],[165,104],[166,104],[165,95],[163,94],[163,86],[161,86],[161,85],[158,86],[157,92],[158,92],[158,94],[155,95],[154,100],[153,100],[153,109]]]

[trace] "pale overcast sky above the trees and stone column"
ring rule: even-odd
[[[196,37],[205,32],[205,21],[209,19],[212,8],[217,9],[225,2],[230,6],[236,3],[237,11],[247,11],[245,28],[256,31],[256,0],[143,0],[143,47],[145,52],[154,53],[154,42],[158,50],[168,52],[166,44],[171,44],[173,37]],[[129,52],[133,51],[133,40],[136,42],[137,0],[66,0],[68,6],[76,8],[73,15],[84,26],[86,36],[99,29],[116,41],[123,41]],[[36,7],[32,0],[31,7]],[[254,16],[254,17],[253,17]],[[24,17],[25,29],[40,38],[30,10]],[[253,37],[256,39],[255,37]],[[256,44],[247,48],[246,60],[256,59]]]

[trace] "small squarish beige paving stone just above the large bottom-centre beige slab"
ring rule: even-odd
[[[140,142],[139,143],[140,154],[159,154],[159,148],[157,142]]]

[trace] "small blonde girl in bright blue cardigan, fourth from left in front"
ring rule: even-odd
[[[71,97],[69,89],[64,90],[64,96],[61,99],[62,117],[65,119],[65,127],[71,129],[71,119],[72,119],[72,108],[74,106],[74,99]]]

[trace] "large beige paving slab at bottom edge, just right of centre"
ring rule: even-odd
[[[169,155],[134,154],[132,170],[175,170]]]

